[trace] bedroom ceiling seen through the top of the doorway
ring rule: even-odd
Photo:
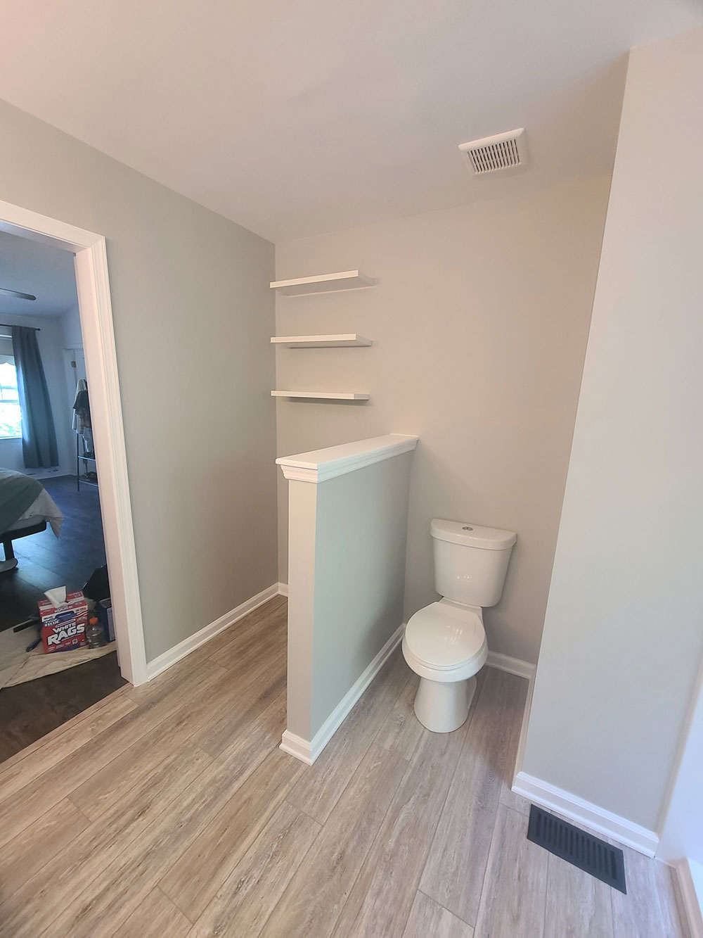
[[[3,313],[60,316],[78,304],[73,254],[0,232],[0,287],[34,294],[36,300],[0,294]]]

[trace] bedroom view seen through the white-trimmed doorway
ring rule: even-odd
[[[126,683],[111,633],[74,258],[3,231],[0,545],[2,763]],[[46,607],[46,592],[62,587],[79,594],[73,618]]]

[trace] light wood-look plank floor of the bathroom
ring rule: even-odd
[[[430,734],[396,653],[318,762],[278,748],[277,598],[0,766],[0,934],[678,938],[668,868],[628,895],[526,840],[525,682],[484,669]]]

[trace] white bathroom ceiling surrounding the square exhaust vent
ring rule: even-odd
[[[3,0],[0,98],[273,240],[609,172],[698,0]],[[457,144],[526,127],[531,169]]]

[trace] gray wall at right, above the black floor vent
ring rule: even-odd
[[[701,113],[703,30],[631,53],[523,764],[654,831],[703,654]]]

